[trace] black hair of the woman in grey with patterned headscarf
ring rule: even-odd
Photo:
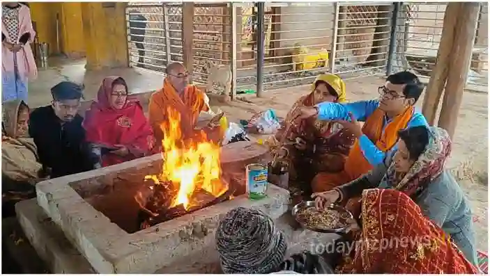
[[[398,137],[404,141],[410,159],[417,160],[429,144],[429,129],[425,126],[401,129]]]

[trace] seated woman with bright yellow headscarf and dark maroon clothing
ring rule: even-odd
[[[298,182],[302,186],[300,190],[307,194],[311,193],[310,183],[316,174],[344,169],[346,156],[355,143],[353,131],[337,122],[309,118],[293,124],[293,113],[298,106],[347,102],[345,83],[335,74],[317,76],[311,89],[312,92],[293,104],[284,127],[276,134],[277,140],[285,138],[279,156],[289,164],[290,185]],[[297,172],[298,168],[301,168],[300,173]]]

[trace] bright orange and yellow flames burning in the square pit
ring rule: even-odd
[[[220,181],[220,147],[207,142],[204,131],[200,133],[201,139],[184,141],[180,113],[169,108],[167,115],[169,120],[162,125],[162,171],[159,175],[147,175],[145,179],[152,179],[155,185],[171,181],[178,191],[170,207],[183,204],[188,210],[192,207],[195,190],[204,190],[214,197],[228,190]]]

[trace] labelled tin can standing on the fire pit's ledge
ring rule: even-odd
[[[251,200],[260,200],[266,197],[267,166],[259,163],[249,164],[246,167],[247,195]]]

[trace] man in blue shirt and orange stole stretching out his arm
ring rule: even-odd
[[[330,190],[369,172],[374,165],[383,163],[386,152],[395,147],[399,130],[427,126],[424,115],[413,106],[423,90],[418,77],[404,71],[388,76],[385,85],[378,88],[379,99],[349,104],[323,102],[298,108],[296,120],[318,117],[319,120],[341,122],[349,129],[359,129],[356,135],[359,138],[349,152],[344,170],[317,174],[312,181],[313,191]],[[358,121],[365,122],[362,129],[352,127]]]

